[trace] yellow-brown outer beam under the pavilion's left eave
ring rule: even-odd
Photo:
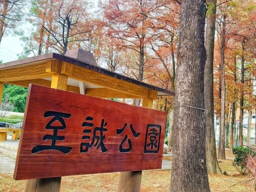
[[[45,68],[46,63],[40,63],[17,68],[3,69],[0,70],[0,81],[10,82],[17,80],[51,77],[51,74],[46,72]]]

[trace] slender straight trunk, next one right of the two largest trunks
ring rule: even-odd
[[[220,127],[218,158],[225,159],[225,15],[222,17],[221,50],[220,50],[220,71],[221,71],[221,99],[220,99]]]

